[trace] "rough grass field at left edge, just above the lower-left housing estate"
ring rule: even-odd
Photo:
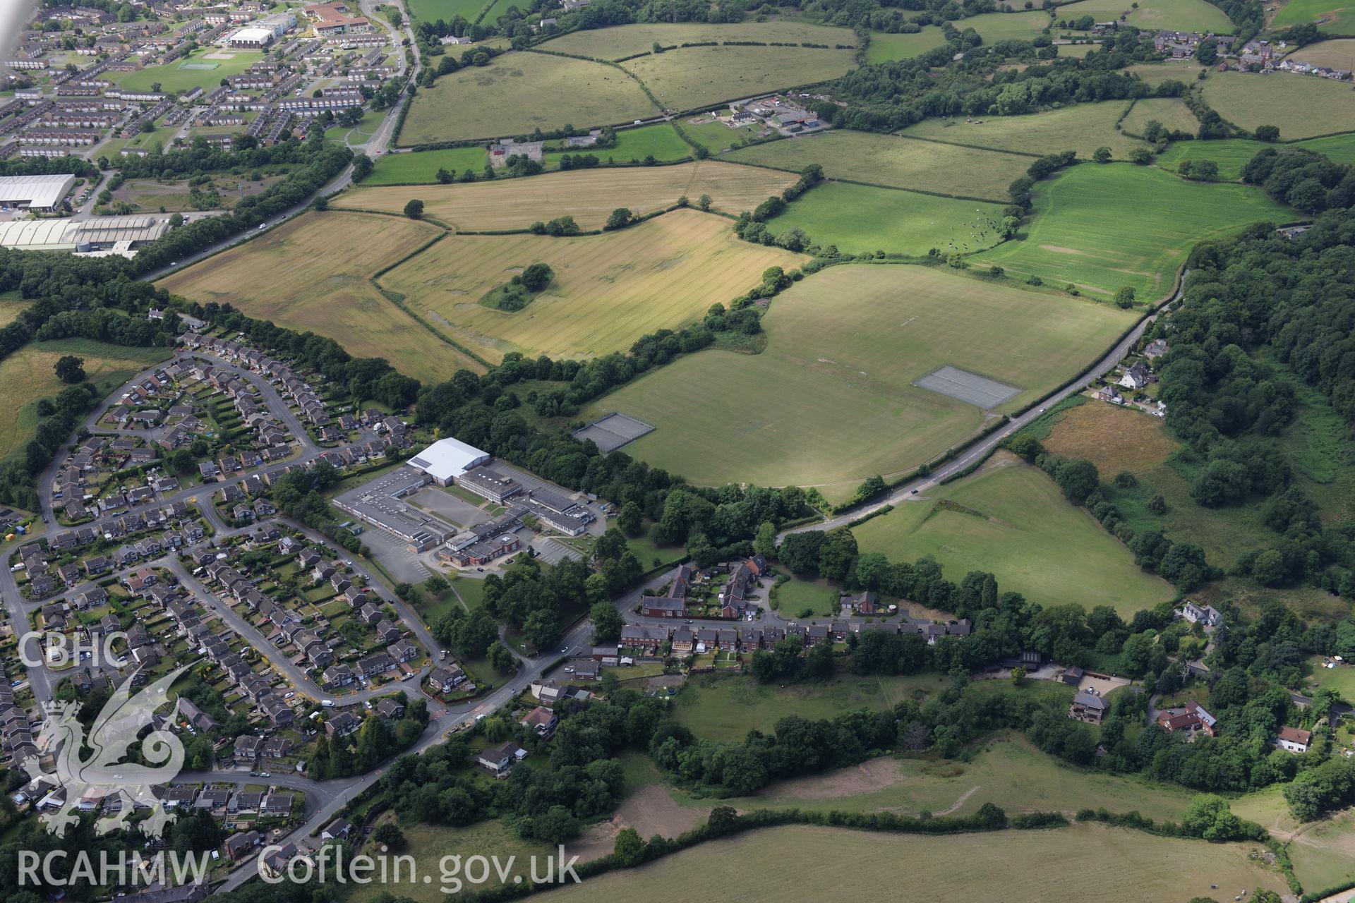
[[[5,303],[3,310],[11,305]],[[15,306],[18,307],[18,306]],[[39,398],[58,394],[66,387],[53,371],[64,355],[84,359],[87,378],[100,393],[107,394],[127,382],[140,370],[169,357],[168,348],[134,348],[129,345],[108,345],[88,338],[58,338],[56,341],[30,343],[0,360],[0,384],[11,399],[22,399],[0,405],[0,460],[23,452],[38,428],[37,403]]]

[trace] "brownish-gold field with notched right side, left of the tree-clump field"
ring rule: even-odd
[[[333,338],[356,357],[385,357],[424,382],[478,363],[381,296],[370,278],[442,230],[413,219],[310,213],[157,284],[251,317]],[[344,241],[362,236],[362,241]]]

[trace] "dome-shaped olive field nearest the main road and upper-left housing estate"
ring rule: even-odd
[[[614,66],[545,53],[508,53],[488,66],[458,69],[420,89],[400,130],[400,144],[492,139],[566,125],[606,126],[648,119],[654,112],[640,85]]]

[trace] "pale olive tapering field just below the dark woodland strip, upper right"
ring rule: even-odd
[[[1115,130],[1115,122],[1126,106],[1125,100],[1107,100],[1079,103],[1024,116],[986,116],[976,122],[959,118],[923,119],[900,134],[905,138],[931,138],[1037,157],[1060,150],[1076,150],[1079,157],[1089,160],[1092,152],[1106,146],[1111,149],[1115,160],[1127,160],[1129,152],[1144,142]]]

